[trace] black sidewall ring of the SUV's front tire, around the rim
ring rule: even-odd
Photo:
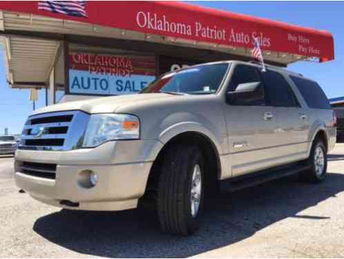
[[[204,166],[204,159],[202,157],[202,153],[195,148],[195,151],[192,152],[192,155],[189,160],[188,165],[188,172],[187,172],[187,181],[185,181],[185,188],[184,192],[184,211],[186,212],[185,220],[187,221],[187,226],[189,227],[189,233],[193,233],[196,231],[202,222],[203,218],[203,207],[204,207],[204,173],[205,173],[205,166]],[[200,166],[201,171],[201,180],[202,180],[202,188],[201,188],[201,198],[200,198],[200,207],[198,208],[197,215],[193,218],[191,214],[191,186],[192,186],[192,176],[193,176],[193,169],[195,165],[198,164]]]

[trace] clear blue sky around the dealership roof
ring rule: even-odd
[[[322,86],[327,97],[344,95],[344,2],[332,1],[192,1],[199,6],[254,15],[298,26],[327,30],[334,37],[335,60],[325,63],[299,61],[288,66]],[[44,91],[39,93],[37,107],[45,105]],[[3,50],[0,48],[0,134],[21,133],[26,118],[32,113],[29,90],[11,89],[6,82]]]

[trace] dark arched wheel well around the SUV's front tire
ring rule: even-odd
[[[196,144],[200,147],[200,150],[203,154],[206,168],[206,179],[204,182],[207,183],[207,186],[211,188],[217,188],[218,179],[220,178],[221,173],[221,165],[220,165],[220,156],[218,154],[218,150],[213,144],[213,142],[209,139],[209,137],[203,135],[202,133],[189,131],[186,133],[180,133],[173,137],[169,142],[167,142],[162,150],[157,155],[155,161],[153,162],[153,166],[151,168],[151,172],[149,173],[149,179],[146,186],[146,191],[144,193],[144,198],[153,198],[157,191],[157,184],[159,182],[160,176],[160,165],[162,163],[162,157],[166,149],[173,144]],[[153,196],[153,197],[152,197]]]

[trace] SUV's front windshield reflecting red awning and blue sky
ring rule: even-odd
[[[162,75],[141,93],[185,93],[208,95],[216,93],[229,64],[194,66]]]

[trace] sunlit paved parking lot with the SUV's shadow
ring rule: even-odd
[[[221,195],[201,231],[160,233],[153,213],[66,211],[19,193],[0,156],[0,257],[343,257],[344,144],[323,184],[295,178]]]

